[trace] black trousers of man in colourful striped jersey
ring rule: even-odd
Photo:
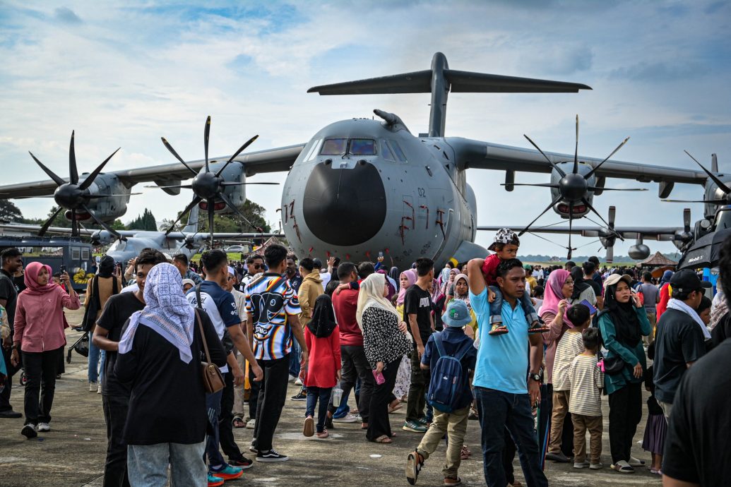
[[[268,451],[272,448],[274,430],[279,423],[281,409],[287,399],[289,382],[289,353],[276,360],[260,360],[264,380],[259,390],[257,423],[254,426],[254,448]]]

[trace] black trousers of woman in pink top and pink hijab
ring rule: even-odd
[[[58,354],[63,353],[63,350],[61,347],[45,352],[23,352],[23,367],[26,368],[28,379],[24,401],[26,422],[23,424],[50,423],[50,408],[56,392]]]

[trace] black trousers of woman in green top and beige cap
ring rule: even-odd
[[[642,419],[642,383],[629,383],[609,395],[609,447],[612,462],[629,461],[632,439]]]

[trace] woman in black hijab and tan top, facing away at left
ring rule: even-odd
[[[96,328],[96,320],[102,315],[107,304],[107,299],[115,294],[119,294],[122,289],[121,276],[113,276],[114,272],[114,259],[110,256],[102,257],[99,261],[99,272],[92,277],[86,285],[86,299],[84,300],[84,307],[88,307],[91,300],[96,300],[96,317],[94,318],[94,324],[89,329],[89,336],[94,334],[94,328]],[[99,294],[96,294],[96,290],[99,290]],[[89,380],[89,391],[96,391],[102,394],[102,379],[104,378],[104,359],[105,352],[100,350],[99,347],[94,345],[93,340],[89,341],[89,359],[88,359],[88,380]],[[99,372],[99,370],[101,372]],[[98,381],[97,381],[98,379]]]

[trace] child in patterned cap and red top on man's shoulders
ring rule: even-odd
[[[495,234],[492,245],[488,248],[488,250],[493,250],[495,253],[485,257],[485,264],[482,264],[482,277],[485,278],[485,285],[488,286],[488,301],[491,303],[491,329],[489,334],[492,336],[508,332],[507,326],[502,324],[502,294],[500,288],[497,286],[498,266],[501,261],[515,258],[518,254],[519,246],[520,240],[515,231],[511,229],[499,229]],[[545,331],[548,331],[547,327],[541,326],[539,323],[538,315],[531,302],[531,296],[528,293],[524,293],[523,297],[520,298],[520,305],[523,307],[523,312],[526,313],[526,320],[528,323],[531,323],[528,329],[529,333],[545,333]]]

